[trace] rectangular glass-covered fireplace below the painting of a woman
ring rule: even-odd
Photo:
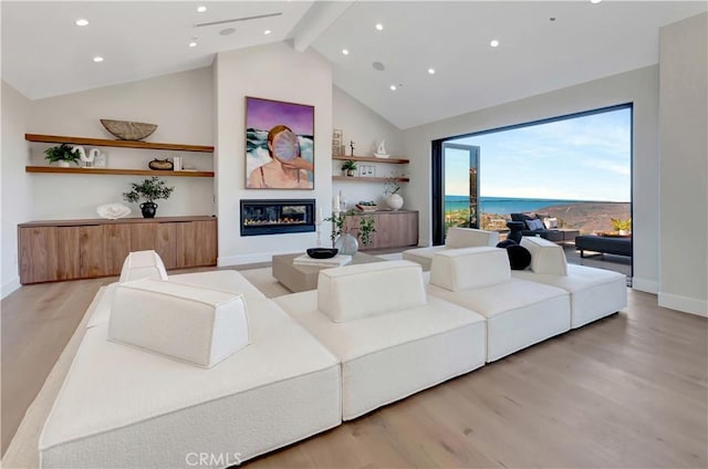
[[[314,199],[241,200],[241,236],[314,231]]]

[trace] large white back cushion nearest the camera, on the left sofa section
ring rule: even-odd
[[[248,345],[246,300],[163,280],[119,283],[108,338],[208,368]]]

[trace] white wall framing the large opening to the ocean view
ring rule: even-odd
[[[658,291],[658,66],[595,80],[405,131],[412,158],[408,208],[420,210],[420,243],[431,238],[430,142],[549,117],[634,103],[634,288]]]

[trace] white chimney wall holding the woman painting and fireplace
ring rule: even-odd
[[[315,52],[295,52],[281,42],[219,53],[215,73],[219,265],[270,261],[273,253],[296,252],[314,247],[314,232],[241,238],[239,201],[314,198],[317,207],[323,207],[325,212],[332,206],[330,63]],[[315,107],[314,190],[246,189],[246,96]],[[326,243],[329,233],[329,229],[323,232],[323,243]]]

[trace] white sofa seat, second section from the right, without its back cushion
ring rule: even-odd
[[[449,291],[429,284],[428,294],[487,317],[487,362],[570,330],[569,293],[555,286],[511,279],[478,289]]]

